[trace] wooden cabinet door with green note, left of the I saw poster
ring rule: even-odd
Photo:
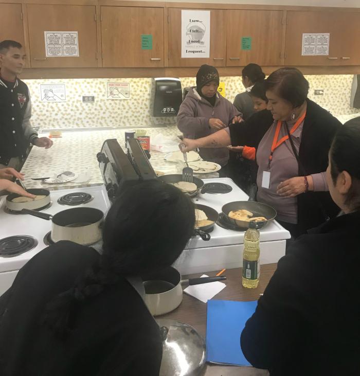
[[[101,7],[104,67],[163,67],[164,8]]]

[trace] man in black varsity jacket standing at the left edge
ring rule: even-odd
[[[48,149],[52,141],[38,137],[30,123],[31,102],[27,85],[17,78],[25,65],[22,45],[0,42],[0,168],[19,170],[31,144]]]

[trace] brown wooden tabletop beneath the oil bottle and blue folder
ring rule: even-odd
[[[245,289],[242,287],[242,268],[226,270],[224,273],[227,277],[227,280],[225,281],[226,288],[218,295],[215,295],[214,299],[238,301],[259,299],[259,294],[264,292],[269,279],[276,270],[276,267],[277,264],[261,265],[260,281],[256,289]],[[200,277],[202,274],[204,273],[183,276],[183,278]],[[216,273],[210,272],[206,274],[213,276]],[[183,323],[193,326],[205,338],[206,304],[192,296],[184,294],[183,302],[176,310],[157,317],[172,318],[174,320],[183,321]],[[201,373],[202,376],[265,376],[267,374],[267,371],[253,367],[218,366],[210,364],[206,364]]]

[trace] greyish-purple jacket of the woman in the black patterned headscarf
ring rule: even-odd
[[[177,128],[183,132],[185,138],[201,138],[216,132],[209,127],[209,119],[220,119],[224,124],[231,122],[233,117],[241,113],[233,104],[217,93],[215,105],[202,98],[196,91],[196,86],[190,88],[180,106],[177,115]],[[225,166],[229,159],[227,148],[201,148],[200,156],[209,162]]]

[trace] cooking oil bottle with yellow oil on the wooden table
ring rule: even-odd
[[[244,236],[243,286],[256,289],[260,278],[260,232],[257,223],[250,222]]]

